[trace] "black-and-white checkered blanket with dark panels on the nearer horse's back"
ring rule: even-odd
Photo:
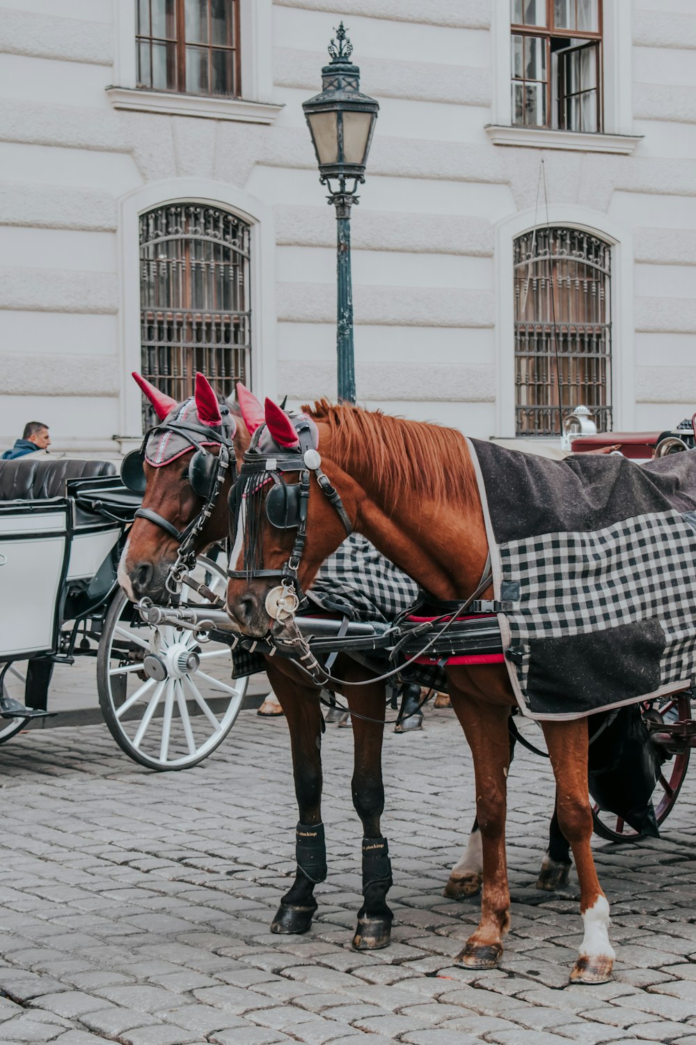
[[[690,686],[696,450],[638,465],[469,445],[522,712],[580,718]]]

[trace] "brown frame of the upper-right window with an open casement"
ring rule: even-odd
[[[603,0],[597,0],[597,23],[599,29],[597,31],[592,31],[590,29],[569,29],[567,27],[556,28],[554,23],[554,0],[546,0],[546,25],[525,25],[518,22],[512,22],[510,17],[510,55],[512,54],[512,37],[531,37],[535,39],[544,40],[544,48],[546,53],[546,123],[514,123],[512,120],[513,109],[512,109],[512,89],[515,83],[526,84],[526,79],[515,79],[510,76],[510,122],[512,126],[532,126],[537,130],[545,131],[568,131],[572,134],[603,134],[604,132],[604,3]],[[553,74],[552,62],[552,51],[551,51],[551,41],[552,40],[582,40],[587,43],[594,43],[599,45],[597,47],[597,131],[591,132],[577,132],[570,131],[570,129],[561,126],[558,120],[558,109],[560,108],[560,94],[558,91],[559,74],[556,72],[555,76]],[[524,60],[523,60],[524,62]],[[524,70],[523,70],[524,71]],[[536,83],[536,82],[534,82]],[[555,99],[554,99],[554,86]],[[555,106],[554,106],[555,100]]]

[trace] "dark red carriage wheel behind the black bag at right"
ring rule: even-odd
[[[644,717],[652,722],[662,721],[666,724],[683,722],[691,718],[690,697],[690,693],[676,693],[673,696],[652,700],[646,706]],[[672,740],[668,734],[661,734],[658,729],[653,733],[651,739],[658,757],[665,758],[657,769],[657,782],[652,795],[655,819],[659,826],[671,813],[685,782],[691,748],[683,742]],[[626,823],[621,816],[600,809],[592,798],[590,805],[595,821],[595,833],[600,838],[606,838],[610,842],[634,842],[644,837],[642,833]]]

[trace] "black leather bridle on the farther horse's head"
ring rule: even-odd
[[[194,450],[193,457],[189,462],[188,480],[194,492],[202,498],[203,506],[188,526],[183,530],[177,530],[173,522],[151,508],[139,508],[135,513],[135,518],[143,518],[147,519],[148,522],[153,522],[168,533],[170,537],[173,537],[178,544],[176,559],[169,567],[169,573],[165,580],[165,587],[171,595],[179,594],[184,577],[195,565],[196,553],[194,545],[196,538],[213,512],[231,464],[233,468],[233,485],[236,480],[237,460],[234,454],[234,428],[230,422],[230,411],[225,407],[220,407],[220,414],[222,415],[222,422],[218,427],[210,427],[193,420],[179,421],[175,417],[164,421],[162,424],[154,425],[145,433],[140,449],[127,454],[121,464],[121,480],[123,484],[130,490],[144,493],[145,473],[143,463],[145,461],[145,446],[151,436],[165,432],[175,433],[189,442],[191,448]],[[207,445],[205,445],[211,443],[220,447],[217,455],[211,454]]]

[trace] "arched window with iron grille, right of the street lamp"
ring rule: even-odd
[[[514,240],[517,435],[558,435],[580,404],[610,431],[610,261],[609,245],[578,229]]]

